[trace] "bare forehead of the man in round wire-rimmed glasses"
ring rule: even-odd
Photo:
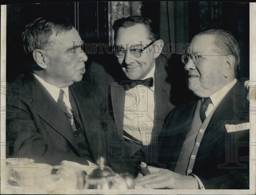
[[[213,35],[196,35],[190,43],[191,53],[211,54],[217,49],[215,39]]]

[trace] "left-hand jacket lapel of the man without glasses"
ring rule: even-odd
[[[27,86],[25,90],[38,115],[77,149],[72,127],[65,113],[33,74],[27,76],[28,79],[24,81],[24,86]]]

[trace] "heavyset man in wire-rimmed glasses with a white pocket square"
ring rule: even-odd
[[[166,117],[159,163],[137,185],[172,189],[249,189],[249,110],[244,80],[236,79],[239,47],[231,33],[196,35],[182,56],[195,94]]]

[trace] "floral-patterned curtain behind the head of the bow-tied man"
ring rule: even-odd
[[[112,25],[115,20],[122,17],[142,15],[141,1],[109,1],[108,2],[108,20],[109,20],[109,43],[114,44],[114,31]]]

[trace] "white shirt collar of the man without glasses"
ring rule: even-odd
[[[34,74],[34,73],[33,73]],[[34,74],[34,76],[37,78],[37,80],[46,88],[46,90],[51,94],[53,99],[57,102],[59,93],[60,93],[60,88],[56,87],[55,85],[49,84],[46,81],[44,81],[42,78],[40,78],[38,75]],[[69,101],[69,93],[68,93],[68,87],[62,88],[63,91],[65,92],[64,96]]]

